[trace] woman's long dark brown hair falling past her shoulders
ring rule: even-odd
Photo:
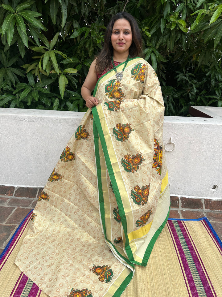
[[[102,71],[104,71],[105,69],[108,69],[111,63],[111,56],[113,54],[111,35],[113,32],[113,25],[118,19],[126,19],[131,26],[133,42],[130,45],[129,49],[130,58],[135,58],[141,56],[142,54],[142,37],[140,35],[139,27],[136,20],[132,15],[125,11],[119,12],[112,17],[106,28],[104,36],[104,46],[96,60],[95,70],[99,74],[102,73]]]

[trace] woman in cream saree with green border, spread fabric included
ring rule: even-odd
[[[141,45],[134,18],[115,15],[82,87],[89,109],[15,261],[51,297],[120,296],[167,221],[164,104]]]

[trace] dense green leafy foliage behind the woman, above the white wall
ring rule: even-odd
[[[138,21],[166,115],[222,106],[221,1],[0,0],[0,107],[85,111],[81,85],[123,9]]]

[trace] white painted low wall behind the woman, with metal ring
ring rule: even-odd
[[[83,115],[0,108],[0,185],[44,186]],[[165,117],[163,142],[171,195],[222,198],[220,117]]]

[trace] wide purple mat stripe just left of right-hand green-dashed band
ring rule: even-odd
[[[180,258],[181,258],[182,263],[183,263],[183,269],[184,269],[184,271],[186,273],[186,276],[187,276],[187,281],[188,281],[188,284],[189,284],[189,287],[190,287],[190,290],[191,290],[192,297],[199,297],[196,286],[195,286],[195,283],[194,283],[194,280],[193,280],[193,277],[192,277],[191,270],[189,268],[186,256],[185,256],[185,254],[183,252],[182,245],[180,243],[179,237],[177,235],[176,229],[175,229],[172,221],[169,221],[169,226],[171,228],[171,232],[173,234],[175,243],[176,243],[177,248],[179,250],[179,255],[180,255]]]

